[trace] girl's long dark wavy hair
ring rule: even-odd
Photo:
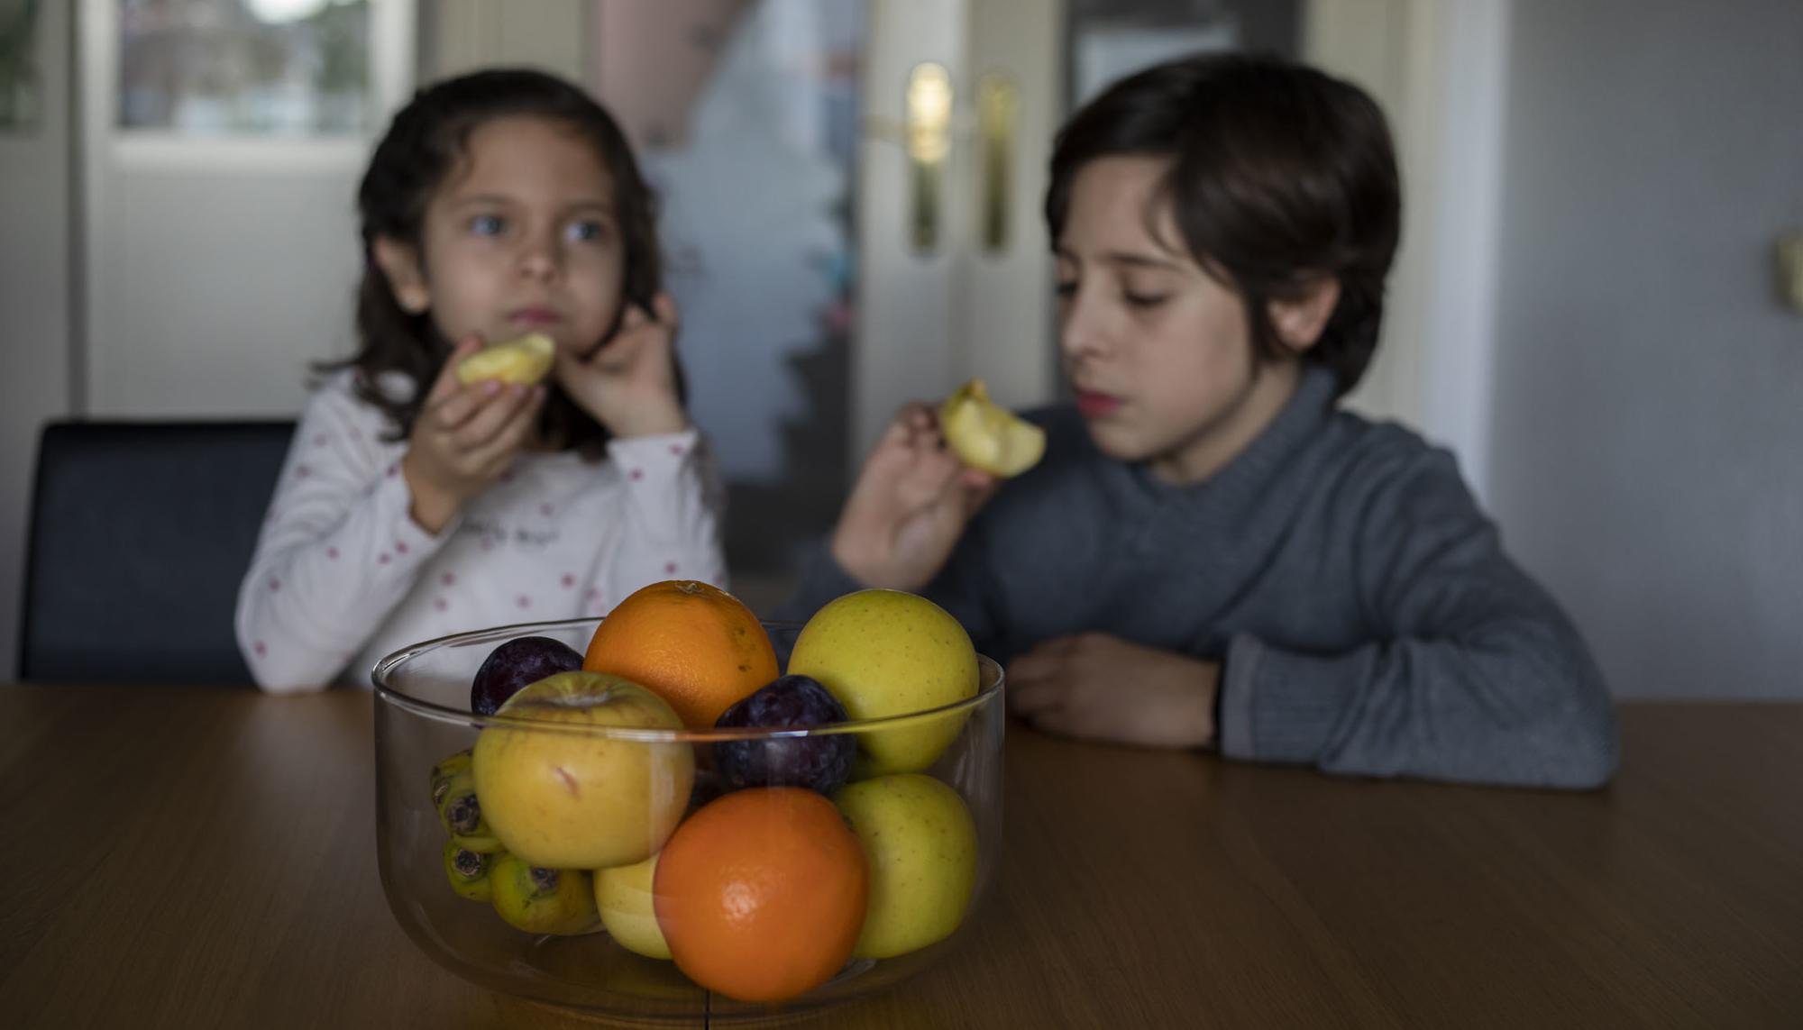
[[[490,68],[422,88],[388,126],[357,187],[364,256],[362,283],[357,286],[357,353],[319,366],[319,371],[357,369],[357,396],[389,416],[395,439],[413,432],[426,387],[453,342],[440,337],[429,312],[413,315],[400,308],[388,276],[375,263],[375,241],[398,239],[424,258],[426,207],[463,157],[471,131],[492,119],[521,115],[568,124],[593,144],[608,167],[624,248],[620,315],[627,304],[649,310],[651,297],[664,286],[656,196],[638,171],[626,133],[606,108],[564,79],[526,68]],[[382,373],[406,375],[415,385],[413,396],[397,400],[384,394],[377,385]],[[680,394],[680,369],[676,382]],[[608,441],[608,430],[555,382],[546,380],[545,385],[541,438],[566,450],[599,450]]]

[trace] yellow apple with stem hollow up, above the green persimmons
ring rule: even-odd
[[[561,672],[507,699],[471,762],[489,830],[530,866],[599,870],[656,854],[689,805],[689,742],[608,736],[682,729],[667,700],[600,672]],[[535,726],[543,724],[543,726]]]

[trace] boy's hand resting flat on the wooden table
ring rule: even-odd
[[[1221,664],[1109,634],[1049,639],[1008,663],[1008,709],[1039,729],[1149,747],[1215,740]]]

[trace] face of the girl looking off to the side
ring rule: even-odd
[[[476,126],[426,209],[422,250],[400,274],[402,308],[431,308],[449,340],[545,333],[588,355],[620,310],[626,248],[613,176],[561,121],[516,115]],[[411,272],[411,276],[409,276]]]

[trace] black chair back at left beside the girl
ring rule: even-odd
[[[54,421],[20,679],[249,684],[233,610],[292,421]]]

